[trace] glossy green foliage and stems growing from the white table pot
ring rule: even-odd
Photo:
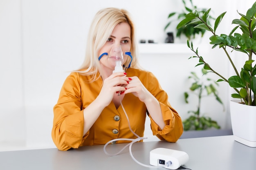
[[[196,22],[194,22],[194,24],[196,24],[195,28],[205,29],[213,34],[209,38],[211,41],[210,44],[213,44],[212,48],[219,46],[219,48],[225,52],[236,75],[229,78],[223,77],[199,55],[198,49],[193,48],[193,43],[191,42],[190,44],[189,41],[187,41],[188,47],[195,53],[195,56],[190,58],[198,58],[199,63],[196,66],[203,65],[209,72],[218,75],[221,79],[217,82],[227,82],[229,86],[236,91],[231,97],[241,99],[241,103],[248,106],[256,106],[256,64],[254,60],[252,60],[256,55],[256,2],[254,2],[252,7],[247,10],[246,14],[238,13],[241,18],[232,21],[232,24],[237,24],[238,26],[235,26],[228,35],[224,33],[220,35],[216,34],[216,30],[226,12],[218,16],[215,20],[214,28],[211,28],[208,24],[210,11],[211,9],[208,9],[202,16],[200,16],[199,12],[196,10],[191,11],[185,16],[185,19],[177,25],[177,29],[189,25],[191,24],[191,21],[196,20]],[[242,31],[242,34],[235,32],[238,28]],[[231,49],[231,52],[236,51],[247,57],[240,73],[233,62],[231,52],[228,51],[229,48]],[[222,60],[220,59],[220,62],[221,61]]]

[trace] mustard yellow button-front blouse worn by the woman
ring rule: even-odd
[[[135,68],[128,68],[126,73],[128,77],[139,77],[142,84],[160,103],[166,126],[161,130],[148,115],[153,135],[161,140],[176,142],[183,132],[182,120],[169,104],[168,96],[160,87],[156,77],[150,72]],[[124,110],[121,106],[116,109],[113,102],[103,109],[97,121],[83,135],[83,109],[99,95],[103,83],[101,78],[88,83],[90,79],[91,76],[74,72],[67,77],[61,88],[58,102],[54,106],[52,128],[52,139],[59,150],[68,150],[85,145],[106,144],[108,141],[117,138],[137,138],[130,132]],[[143,137],[147,112],[145,104],[131,93],[124,96],[122,104],[129,117],[132,130]],[[117,143],[124,142],[130,141],[117,141]]]

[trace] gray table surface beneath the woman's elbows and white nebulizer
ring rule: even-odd
[[[118,152],[125,144],[107,146],[109,153]],[[132,145],[133,156],[149,165],[149,152],[155,148],[182,150],[189,155],[184,165],[191,170],[255,170],[256,148],[234,141],[234,136],[137,142]],[[84,146],[59,151],[56,148],[0,152],[0,170],[164,170],[146,168],[130,157],[126,148],[117,156],[108,156],[103,145]]]

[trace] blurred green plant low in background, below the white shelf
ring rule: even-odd
[[[204,75],[207,74],[207,70],[202,69],[202,73],[203,73],[203,76],[202,76],[203,78]],[[184,130],[205,130],[212,127],[216,129],[220,129],[220,126],[216,121],[212,120],[211,117],[202,115],[200,110],[203,97],[214,96],[216,100],[223,105],[220,97],[218,96],[218,91],[216,89],[216,86],[218,86],[218,83],[210,78],[206,78],[206,79],[202,79],[202,78],[200,79],[194,72],[191,72],[191,76],[189,76],[189,79],[193,79],[193,83],[189,88],[190,92],[184,93],[185,102],[189,103],[188,101],[189,94],[193,94],[198,97],[198,106],[195,111],[194,110],[188,111],[188,113],[189,114],[192,113],[192,115],[183,121]]]

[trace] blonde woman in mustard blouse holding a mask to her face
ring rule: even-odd
[[[109,54],[121,46],[126,72],[113,73]],[[142,137],[146,113],[153,135],[176,142],[182,135],[182,120],[168,102],[156,77],[139,69],[134,25],[128,11],[99,11],[88,35],[85,61],[65,80],[54,106],[52,139],[59,150],[106,144],[117,138]],[[124,109],[120,106],[123,104]],[[124,143],[129,141],[117,141]],[[114,142],[115,143],[115,142]]]

